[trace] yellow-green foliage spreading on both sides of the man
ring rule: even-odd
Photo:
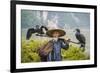
[[[38,55],[38,49],[47,41],[42,40],[24,40],[22,41],[21,49],[21,62],[40,62],[40,56]],[[80,48],[75,45],[70,45],[68,50],[62,49],[61,55],[63,60],[86,60],[89,59]]]

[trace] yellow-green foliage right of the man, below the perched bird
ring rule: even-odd
[[[70,46],[68,50],[62,49],[63,60],[87,60],[89,57],[78,47]]]

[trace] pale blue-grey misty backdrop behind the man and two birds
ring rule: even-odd
[[[36,25],[59,27],[66,31],[64,37],[70,38],[77,42],[74,30],[79,28],[81,33],[86,37],[86,52],[90,52],[90,14],[83,12],[60,12],[60,11],[36,11],[21,10],[21,33],[22,39],[26,38],[29,28],[35,28]],[[37,37],[32,35],[33,39],[46,39],[46,37]]]

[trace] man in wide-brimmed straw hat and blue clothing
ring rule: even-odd
[[[50,40],[41,49],[42,51],[40,52],[41,60],[42,61],[61,61],[62,60],[61,49],[63,48],[67,50],[69,48],[69,40],[60,38],[66,34],[65,31],[61,29],[52,29],[52,30],[48,30],[46,34],[48,37],[52,38],[52,40]],[[47,48],[47,49],[43,51],[44,48]],[[43,53],[45,56],[43,56]]]

